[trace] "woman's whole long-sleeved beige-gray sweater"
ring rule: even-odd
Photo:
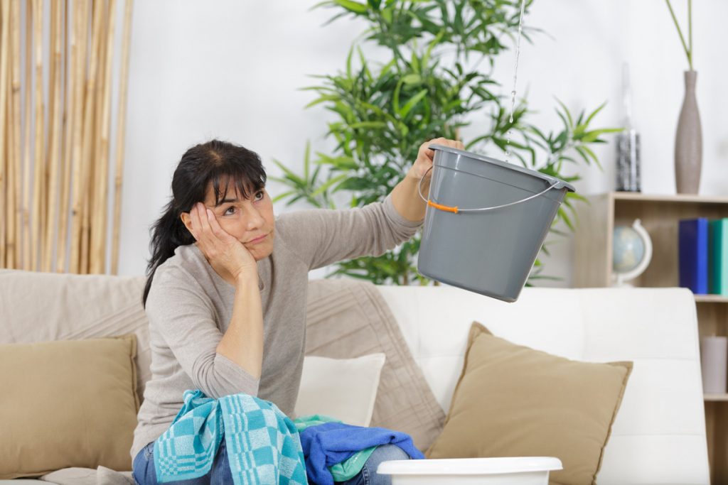
[[[306,340],[309,270],[379,255],[410,239],[422,223],[397,213],[392,196],[360,209],[314,209],[277,217],[272,254],[258,261],[264,350],[260,379],[215,349],[232,317],[234,286],[197,246],[180,246],[157,268],[146,301],[151,379],[134,431],[132,460],[164,433],[187,389],[220,398],[248,393],[293,416]]]

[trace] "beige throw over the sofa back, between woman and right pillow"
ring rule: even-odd
[[[442,430],[445,413],[376,286],[350,279],[310,281],[306,355],[351,358],[375,352],[387,361],[371,426],[407,433],[415,446],[427,449]]]

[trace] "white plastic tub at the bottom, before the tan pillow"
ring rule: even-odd
[[[561,468],[553,457],[448,458],[381,462],[376,472],[392,485],[548,485],[550,470]]]

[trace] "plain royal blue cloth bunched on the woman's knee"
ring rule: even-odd
[[[326,422],[301,431],[301,446],[306,459],[306,474],[317,485],[333,485],[328,467],[347,460],[352,454],[382,444],[395,444],[411,458],[424,458],[412,444],[412,438],[384,428],[362,428],[343,422]]]

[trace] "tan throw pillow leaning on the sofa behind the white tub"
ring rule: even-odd
[[[550,484],[594,484],[631,370],[631,362],[571,361],[515,345],[474,322],[427,457],[558,457],[563,470]]]

